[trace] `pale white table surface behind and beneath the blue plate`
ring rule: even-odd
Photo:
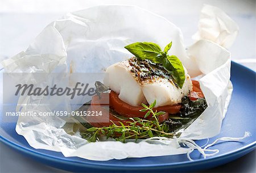
[[[125,1],[0,1],[0,60],[14,56],[32,42],[36,35],[53,20],[69,11],[102,4],[129,4],[162,15],[181,28],[186,45],[193,43],[200,9],[204,3],[220,7],[240,26],[236,42],[230,48],[232,60],[256,71],[255,0],[125,0]],[[63,172],[28,159],[9,147],[0,145],[0,172]],[[255,151],[224,166],[203,172],[256,172]]]

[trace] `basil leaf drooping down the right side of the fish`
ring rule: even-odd
[[[163,66],[166,70],[170,71],[177,85],[182,88],[185,81],[185,71],[179,58],[174,55],[167,56],[163,61]]]

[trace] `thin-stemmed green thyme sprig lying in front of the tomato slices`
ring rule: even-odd
[[[127,121],[126,124],[123,124],[121,121],[118,121],[119,124],[115,124],[112,121],[112,125],[104,126],[101,128],[92,127],[87,129],[87,132],[90,133],[80,133],[83,138],[90,142],[96,142],[100,139],[101,136],[106,136],[106,138],[114,138],[116,141],[125,142],[128,139],[135,139],[137,141],[141,138],[149,137],[174,137],[174,133],[170,132],[168,124],[159,124],[159,115],[163,115],[165,112],[154,111],[156,100],[141,109],[142,112],[146,112],[144,118],[152,115],[152,119],[141,119],[138,117],[130,118],[131,121]]]

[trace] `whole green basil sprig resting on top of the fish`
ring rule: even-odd
[[[162,64],[174,78],[174,82],[182,88],[185,81],[185,71],[179,58],[174,55],[169,56],[168,50],[172,47],[172,42],[169,43],[164,51],[158,44],[151,42],[137,42],[127,45],[125,48],[129,50],[135,57],[140,60],[150,60],[154,63]]]

